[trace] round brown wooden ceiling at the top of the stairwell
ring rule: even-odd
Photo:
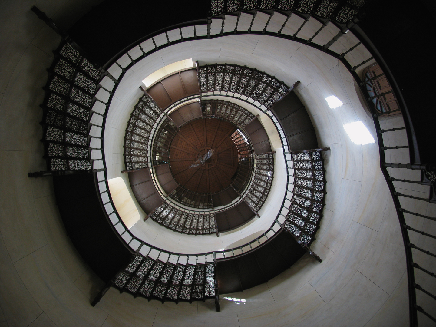
[[[230,135],[236,127],[221,119],[198,119],[182,126],[170,147],[174,179],[190,191],[215,193],[228,187],[238,167],[238,150]],[[209,149],[215,153],[204,165],[189,168]]]

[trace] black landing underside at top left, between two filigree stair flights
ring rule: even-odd
[[[208,8],[208,1],[106,0],[78,20],[68,34],[103,65],[147,34],[191,20],[205,20]]]

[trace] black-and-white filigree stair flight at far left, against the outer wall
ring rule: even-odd
[[[91,170],[91,107],[102,73],[66,41],[54,51],[48,72],[41,105],[41,141],[48,170]]]

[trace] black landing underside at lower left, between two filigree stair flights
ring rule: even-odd
[[[107,283],[129,263],[132,253],[107,221],[94,175],[54,176],[53,184],[69,238],[85,262]]]

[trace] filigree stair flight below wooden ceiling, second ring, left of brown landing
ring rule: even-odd
[[[216,233],[215,214],[202,213],[177,208],[172,203],[164,202],[150,215],[154,221],[174,231],[205,235]]]

